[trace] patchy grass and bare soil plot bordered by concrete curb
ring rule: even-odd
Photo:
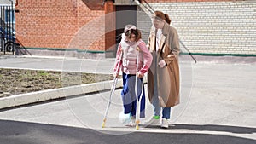
[[[112,75],[0,68],[0,97],[112,80]]]

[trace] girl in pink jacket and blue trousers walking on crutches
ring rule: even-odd
[[[119,60],[122,55],[121,71],[123,72],[123,89],[121,97],[123,101],[124,112],[122,114],[129,115],[123,121],[129,126],[135,126],[138,118],[136,118],[137,108],[140,109],[140,118],[145,118],[145,94],[143,90],[143,77],[152,62],[152,55],[148,51],[146,44],[142,40],[142,34],[137,30],[136,26],[125,26],[125,32],[122,34],[119,43],[116,59]],[[114,77],[119,75],[119,64],[114,66]],[[137,100],[141,100],[137,105]],[[138,107],[140,106],[140,107]]]

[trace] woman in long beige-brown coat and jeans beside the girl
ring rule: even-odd
[[[160,124],[162,109],[161,127],[168,128],[171,107],[179,103],[179,40],[167,14],[155,11],[152,23],[148,37],[148,49],[153,55],[148,70],[148,98],[154,107],[154,117],[150,123]]]

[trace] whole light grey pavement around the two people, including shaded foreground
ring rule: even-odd
[[[68,59],[63,62],[60,58],[14,57],[1,59],[0,67],[34,69],[41,67],[55,68],[58,71],[102,73],[111,71],[113,60],[102,59],[104,68],[101,68],[99,61]],[[255,58],[236,63],[232,63],[232,60],[228,62],[200,60],[195,64],[193,61],[181,60],[181,104],[172,107],[170,129],[167,130],[160,129],[159,125],[146,125],[135,132],[133,128],[119,124],[119,112],[122,107],[119,97],[120,89],[117,89],[113,96],[107,128],[104,130],[101,124],[109,92],[102,90],[97,93],[60,99],[60,101],[5,109],[0,112],[2,119],[0,125],[3,126],[0,133],[10,135],[8,139],[4,135],[0,139],[5,144],[15,143],[15,141],[35,143],[35,140],[41,140],[38,143],[43,144],[49,143],[47,142],[49,138],[52,143],[61,144],[119,143],[128,139],[132,139],[130,143],[170,143],[172,141],[171,143],[253,144],[256,142],[255,61]],[[151,116],[152,107],[147,100],[146,118],[142,119],[142,122],[147,121]],[[35,127],[32,129],[26,125]],[[62,132],[59,135],[56,133],[49,135],[49,131]],[[26,135],[20,135],[24,132]],[[18,136],[11,134],[18,134]],[[95,136],[90,137],[90,135]],[[63,139],[60,139],[60,136]],[[158,141],[154,141],[155,139]]]

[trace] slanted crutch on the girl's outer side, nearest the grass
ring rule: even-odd
[[[117,66],[117,69],[116,69],[115,73],[119,72],[119,68],[120,68],[120,63],[121,63],[122,57],[123,57],[123,52],[121,51],[121,53],[119,55],[119,60],[117,61],[118,62],[118,66]],[[103,118],[102,128],[105,127],[105,123],[106,123],[107,116],[108,116],[108,110],[109,110],[109,107],[110,107],[110,104],[111,104],[111,101],[112,101],[112,95],[113,95],[113,92],[115,90],[117,82],[118,82],[118,77],[115,75],[114,78],[113,78],[113,84],[111,86],[111,91],[110,91],[110,95],[109,95],[109,99],[108,99],[108,106],[106,108],[105,115],[104,115],[104,118]]]

